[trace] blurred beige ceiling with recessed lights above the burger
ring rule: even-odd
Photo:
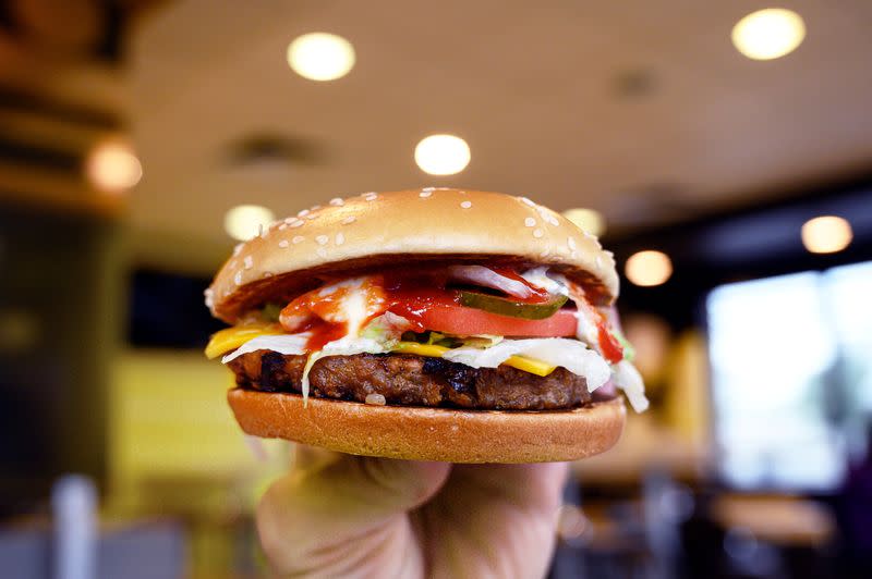
[[[759,2],[592,4],[166,4],[129,39],[144,165],[130,222],[152,239],[223,250],[223,214],[238,204],[282,215],[342,194],[446,185],[593,207],[631,232],[872,168],[872,2],[782,2],[808,36],[765,62],[729,40]],[[354,45],[348,76],[290,71],[287,45],[316,30]],[[444,132],[467,139],[472,162],[426,175],[414,146]],[[306,153],[240,163],[234,148],[257,137]]]

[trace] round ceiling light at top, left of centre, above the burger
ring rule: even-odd
[[[288,64],[304,78],[336,81],[354,67],[351,42],[328,33],[304,34],[288,45]]]

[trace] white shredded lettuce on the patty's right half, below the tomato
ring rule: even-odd
[[[511,356],[529,356],[552,366],[562,366],[573,374],[584,377],[588,390],[593,392],[611,375],[608,364],[577,340],[542,337],[530,340],[502,340],[489,348],[463,346],[451,349],[443,358],[473,368],[496,368]]]

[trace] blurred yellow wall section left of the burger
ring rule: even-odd
[[[249,510],[253,489],[286,463],[265,441],[258,461],[225,395],[231,373],[199,352],[125,350],[109,395],[110,508],[196,514]]]

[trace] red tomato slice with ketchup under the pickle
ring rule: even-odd
[[[560,337],[576,335],[576,313],[560,309],[544,320],[525,320],[460,306],[450,296],[436,292],[404,296],[389,311],[410,320],[415,332],[433,330],[447,334],[494,334],[513,337]]]

